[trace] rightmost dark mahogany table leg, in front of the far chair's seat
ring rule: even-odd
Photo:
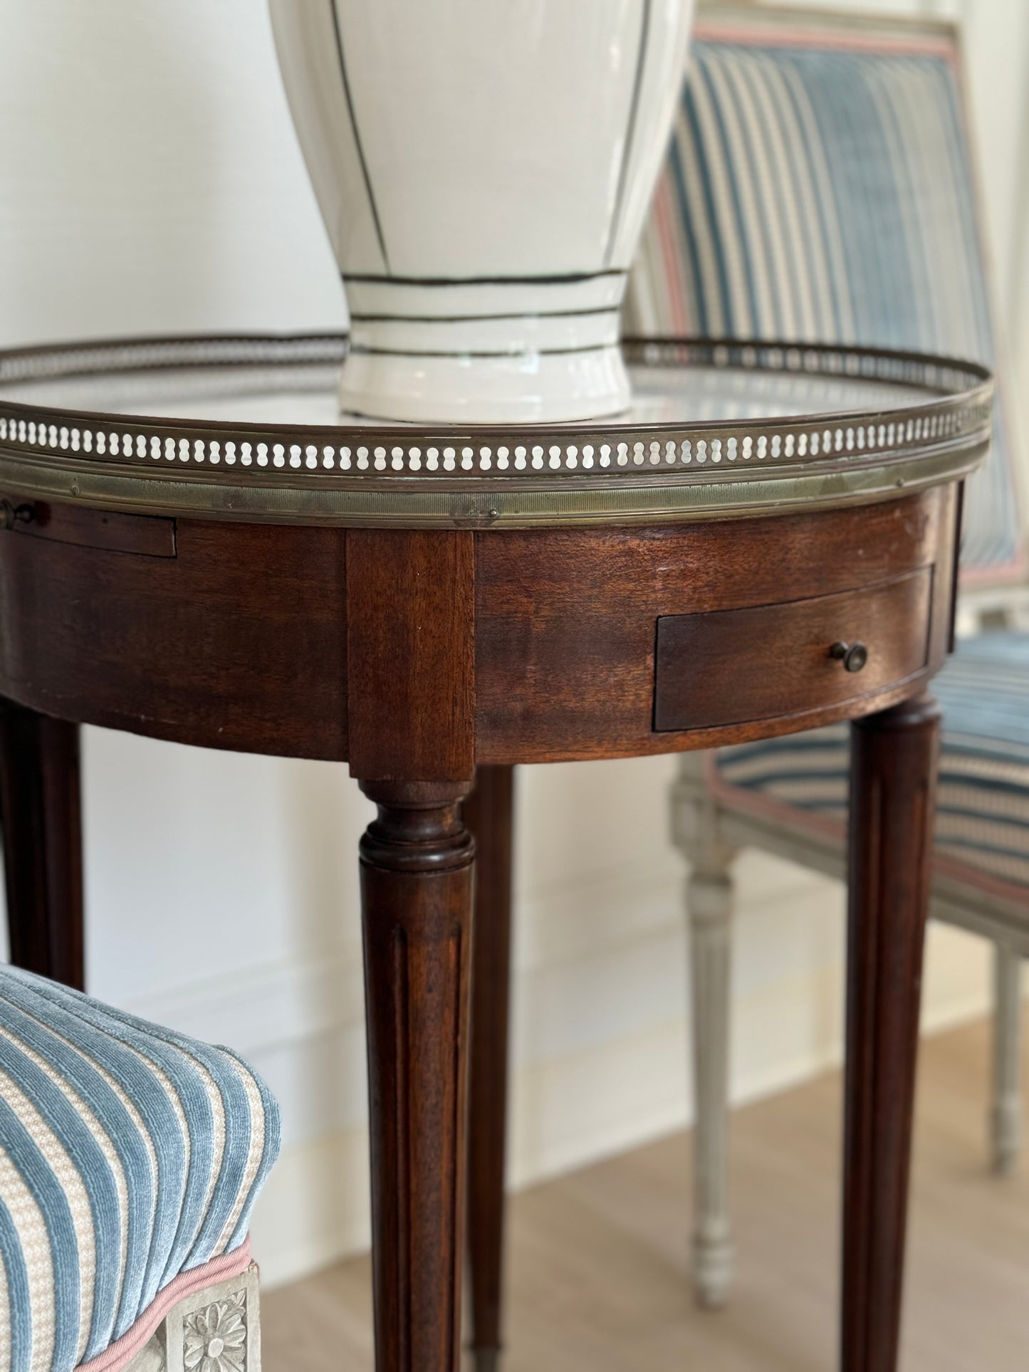
[[[844,1372],[895,1372],[940,711],[853,726],[844,1176]]]

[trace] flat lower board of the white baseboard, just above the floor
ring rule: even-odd
[[[799,1047],[809,1032],[809,1017],[799,1013],[799,1002],[833,999],[836,981],[830,970],[815,995],[808,985],[805,996],[799,997],[799,988],[785,982],[774,992],[734,1003],[735,1044],[766,1045],[759,1059],[737,1070],[734,1104],[785,1091],[838,1065],[838,1039]],[[927,1032],[951,1028],[985,1010],[975,991],[951,1000],[933,999]],[[771,1041],[770,1025],[777,1026]],[[512,1078],[509,1185],[516,1191],[638,1147],[686,1128],[690,1117],[683,1018],[630,1040],[523,1066]],[[683,1243],[687,1225],[689,1217],[683,1216]],[[254,1253],[269,1288],[365,1251],[369,1233],[364,1125],[283,1152],[252,1225]]]

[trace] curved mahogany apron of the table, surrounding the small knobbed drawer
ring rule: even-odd
[[[350,723],[357,775],[413,764],[466,779],[475,763],[720,746],[881,709],[918,682],[840,701],[833,674],[811,708],[755,720],[753,700],[733,707],[748,682],[729,674],[731,723],[654,730],[659,619],[864,591],[932,567],[927,678],[947,650],[954,541],[951,490],[650,530],[178,520],[176,557],[0,532],[0,693],[81,723],[327,760],[347,757]],[[402,623],[398,605],[413,608]],[[895,642],[916,630],[904,606],[882,623]],[[451,641],[460,690],[438,663]]]

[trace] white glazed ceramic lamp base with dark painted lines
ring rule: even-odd
[[[350,307],[343,409],[624,410],[619,306],[691,0],[270,4]]]

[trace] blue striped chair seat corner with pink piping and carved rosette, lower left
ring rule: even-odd
[[[259,1372],[257,1076],[0,967],[0,1372]]]

